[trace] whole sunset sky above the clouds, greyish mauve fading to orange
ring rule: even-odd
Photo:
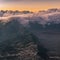
[[[60,8],[60,0],[0,0],[0,10],[39,11]]]

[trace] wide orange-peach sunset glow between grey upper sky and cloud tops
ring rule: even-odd
[[[47,10],[47,9],[51,9],[51,8],[60,8],[60,3],[34,3],[34,4],[0,4],[0,10],[19,10],[19,11],[24,11],[24,10],[28,10],[28,11],[32,11],[32,12],[37,12],[40,10]]]

